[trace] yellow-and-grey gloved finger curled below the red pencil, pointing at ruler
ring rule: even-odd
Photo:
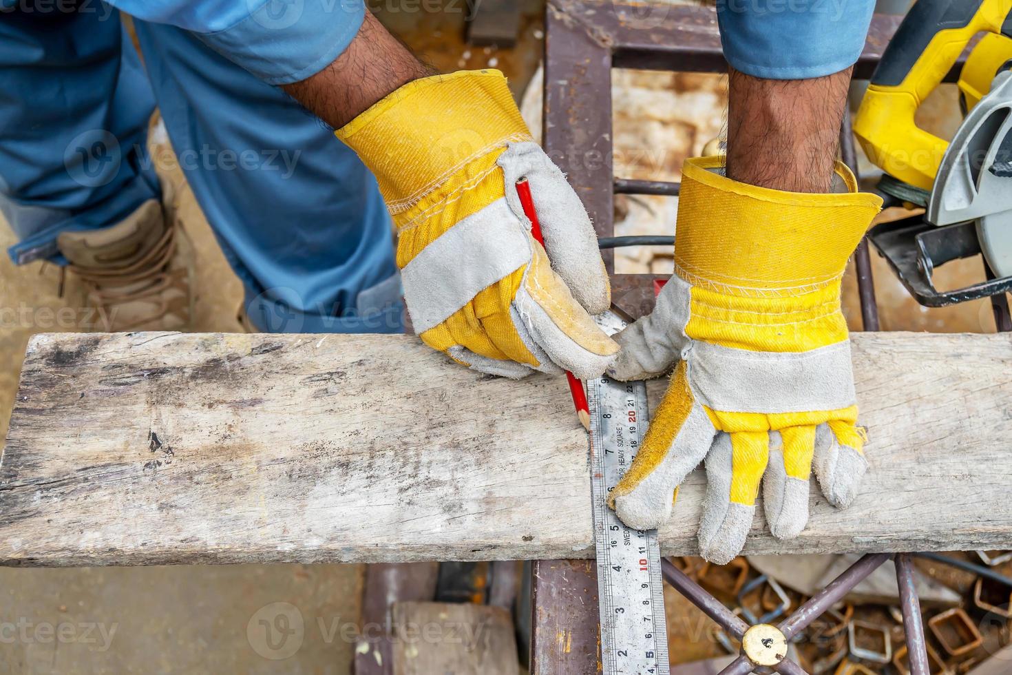
[[[618,345],[576,302],[552,269],[540,244],[530,239],[531,260],[513,300],[521,337],[536,344],[556,364],[581,378],[600,376],[615,359]]]

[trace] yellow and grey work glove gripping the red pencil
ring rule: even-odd
[[[337,132],[376,175],[415,332],[477,370],[596,377],[618,346],[593,322],[608,276],[583,204],[494,70],[401,87]],[[526,177],[544,237],[530,235]]]

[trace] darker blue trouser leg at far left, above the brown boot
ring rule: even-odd
[[[155,100],[119,13],[48,7],[0,13],[0,212],[19,264],[59,258],[61,232],[105,227],[159,193],[144,152]]]

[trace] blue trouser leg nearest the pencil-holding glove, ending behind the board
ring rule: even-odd
[[[136,22],[176,157],[268,332],[401,332],[375,178],[280,89],[190,32]]]

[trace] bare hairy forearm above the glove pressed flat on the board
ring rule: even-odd
[[[764,80],[731,69],[728,177],[792,192],[827,192],[850,69],[808,80]]]

